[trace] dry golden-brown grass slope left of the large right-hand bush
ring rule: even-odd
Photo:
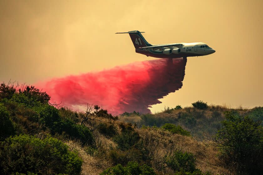
[[[193,153],[196,157],[196,168],[203,172],[209,171],[212,174],[227,174],[225,169],[217,157],[218,150],[212,141],[197,141],[192,137],[182,136],[178,134],[171,134],[167,131],[159,129],[137,129],[142,139],[149,140],[152,149],[156,155],[156,161],[165,155],[166,150],[172,151],[181,150],[183,152]],[[150,135],[150,136],[149,136]],[[169,145],[171,143],[172,145]],[[154,143],[157,147],[154,147]],[[153,162],[152,167],[158,170],[156,164]],[[166,173],[170,172],[168,168],[165,169]]]

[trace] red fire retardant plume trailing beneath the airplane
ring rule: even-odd
[[[60,103],[74,110],[83,110],[87,103],[102,106],[110,113],[151,113],[158,99],[183,86],[186,59],[157,59],[123,66],[53,78],[38,83],[51,96],[51,103]]]

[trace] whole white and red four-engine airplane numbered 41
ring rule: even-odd
[[[173,44],[149,44],[140,31],[120,32],[129,33],[136,53],[155,58],[187,58],[204,56],[215,53],[215,50],[203,42],[173,43]]]

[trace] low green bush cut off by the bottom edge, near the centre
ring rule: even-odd
[[[139,166],[137,162],[129,162],[126,167],[118,164],[104,170],[100,175],[156,175],[156,173],[147,165]]]

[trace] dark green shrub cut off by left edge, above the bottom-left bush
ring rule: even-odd
[[[15,133],[14,124],[2,103],[0,103],[0,128],[0,140],[4,140]]]

